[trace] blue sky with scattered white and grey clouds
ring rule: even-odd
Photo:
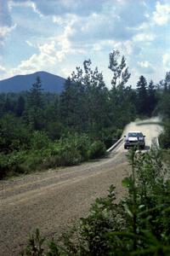
[[[169,0],[0,0],[0,79],[47,71],[64,78],[82,62],[111,87],[109,53],[125,55],[133,87],[170,71]]]

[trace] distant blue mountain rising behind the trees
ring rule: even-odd
[[[42,89],[44,91],[60,93],[65,84],[65,79],[47,72],[36,72],[26,75],[17,75],[10,79],[0,81],[1,92],[20,92],[23,90],[30,90],[31,85],[36,82],[37,76],[42,81]]]

